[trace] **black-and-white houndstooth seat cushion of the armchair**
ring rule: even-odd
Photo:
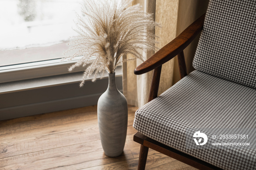
[[[188,128],[256,128],[256,90],[195,70],[135,113],[142,134],[222,169],[255,169],[249,151],[186,148]],[[255,132],[256,134],[256,132]]]

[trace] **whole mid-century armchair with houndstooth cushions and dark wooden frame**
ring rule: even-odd
[[[196,70],[187,75],[183,50],[201,31]],[[157,97],[161,66],[176,55],[182,79]],[[255,0],[210,0],[206,15],[134,73],[153,69],[149,103],[136,111],[133,123],[133,140],[141,144],[138,169],[145,169],[148,148],[198,169],[256,169],[254,146],[186,147],[188,128],[256,128]]]

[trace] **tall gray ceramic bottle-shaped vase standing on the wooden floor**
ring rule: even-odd
[[[98,125],[101,144],[106,155],[122,154],[127,134],[128,107],[124,95],[118,91],[115,73],[109,73],[109,85],[98,100]]]

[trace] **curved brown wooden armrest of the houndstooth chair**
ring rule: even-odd
[[[181,51],[183,51],[192,42],[192,40],[196,38],[197,34],[203,30],[204,16],[205,13],[181,32],[181,34],[175,39],[139,65],[134,70],[134,74],[147,73],[181,53]]]

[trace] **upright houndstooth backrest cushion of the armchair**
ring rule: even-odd
[[[256,0],[210,0],[193,67],[256,88]]]

